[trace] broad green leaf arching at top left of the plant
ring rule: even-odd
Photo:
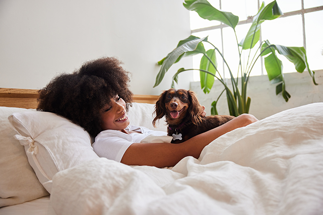
[[[185,4],[186,3],[186,4]],[[224,24],[235,28],[239,22],[239,17],[233,15],[230,12],[224,12],[215,9],[206,0],[187,0],[183,3],[184,7],[189,11],[196,11],[200,17],[207,20],[217,20],[223,22]]]

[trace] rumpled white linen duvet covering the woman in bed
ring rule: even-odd
[[[100,158],[52,181],[57,214],[323,214],[323,103],[233,130],[172,169]]]

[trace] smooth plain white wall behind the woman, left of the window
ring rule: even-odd
[[[87,60],[116,56],[132,75],[135,94],[159,95],[186,57],[153,88],[156,62],[190,35],[181,0],[1,0],[0,87],[40,89]],[[170,72],[171,73],[171,72]],[[189,88],[192,75],[182,75]]]

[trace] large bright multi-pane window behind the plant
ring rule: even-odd
[[[265,0],[264,2],[267,5],[272,1]],[[240,42],[251,25],[251,16],[256,15],[262,1],[209,0],[209,3],[217,9],[231,12],[239,17],[239,23],[235,29],[238,42]],[[268,39],[272,44],[284,46],[304,46],[310,69],[323,69],[323,64],[321,63],[323,60],[323,1],[277,0],[277,4],[284,15],[275,20],[265,21],[262,24],[261,40]],[[234,7],[232,7],[233,5]],[[239,56],[233,30],[218,21],[204,20],[196,12],[190,12],[190,27],[192,35],[198,37],[209,36],[209,41],[222,51],[233,75],[237,76],[235,71],[238,69]],[[273,29],[275,29],[274,32]],[[208,50],[211,47],[206,44],[205,48]],[[202,55],[193,56],[194,68],[199,67],[201,57]],[[228,69],[221,59],[221,56],[217,55],[218,70],[223,71],[223,77],[229,78]],[[285,57],[280,59],[283,61],[284,73],[296,71],[293,63],[289,62]],[[242,62],[243,60],[246,62],[247,54],[242,56]],[[263,59],[257,60],[250,75],[266,75]],[[199,72],[195,72],[194,80],[200,80]]]

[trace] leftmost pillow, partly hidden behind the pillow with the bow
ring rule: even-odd
[[[0,207],[31,201],[49,193],[28,163],[24,147],[14,138],[17,132],[8,121],[24,108],[0,107]]]

